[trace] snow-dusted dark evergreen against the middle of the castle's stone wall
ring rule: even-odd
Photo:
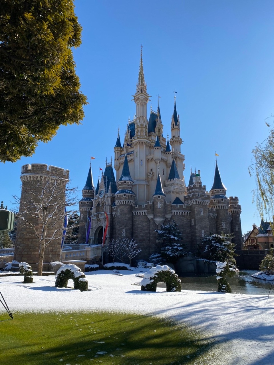
[[[186,254],[182,233],[174,220],[168,224],[161,224],[160,229],[155,230],[155,232],[157,232],[157,239],[161,241],[160,253],[165,260],[176,262],[178,258]]]

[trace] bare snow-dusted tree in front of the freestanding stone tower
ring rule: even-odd
[[[21,199],[14,196],[20,204],[18,221],[23,227],[31,228],[39,245],[38,275],[42,275],[45,248],[50,244],[60,245],[63,236],[65,216],[77,211],[69,210],[77,203],[76,188],[66,185],[67,181],[58,177],[37,176],[35,189],[24,188]],[[65,211],[65,208],[68,209]],[[72,227],[71,227],[72,228]],[[30,233],[31,234],[31,233]],[[61,257],[60,257],[61,259]]]

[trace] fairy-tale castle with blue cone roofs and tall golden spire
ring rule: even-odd
[[[174,220],[183,234],[187,250],[195,252],[209,234],[231,233],[236,251],[241,250],[241,206],[237,197],[227,197],[217,166],[210,192],[202,185],[200,170],[184,181],[184,155],[181,153],[180,120],[176,110],[171,118],[171,138],[163,137],[158,102],[157,111],[147,118],[149,94],[146,91],[142,51],[134,119],[128,123],[123,145],[118,132],[113,161],[106,163],[97,187],[91,167],[79,202],[79,243],[102,243],[111,239],[134,238],[140,257],[148,260],[156,252],[156,232],[160,224]],[[106,225],[108,220],[108,226]]]

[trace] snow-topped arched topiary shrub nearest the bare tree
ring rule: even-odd
[[[79,289],[81,292],[88,290],[88,281],[85,278],[85,274],[81,272],[80,268],[72,264],[61,266],[57,271],[55,280],[56,288],[66,288],[69,279],[73,280],[74,289]]]

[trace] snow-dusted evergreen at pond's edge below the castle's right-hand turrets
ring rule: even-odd
[[[205,236],[200,247],[200,256],[209,261],[227,262],[230,267],[236,266],[235,244],[231,242],[231,235],[213,234]]]

